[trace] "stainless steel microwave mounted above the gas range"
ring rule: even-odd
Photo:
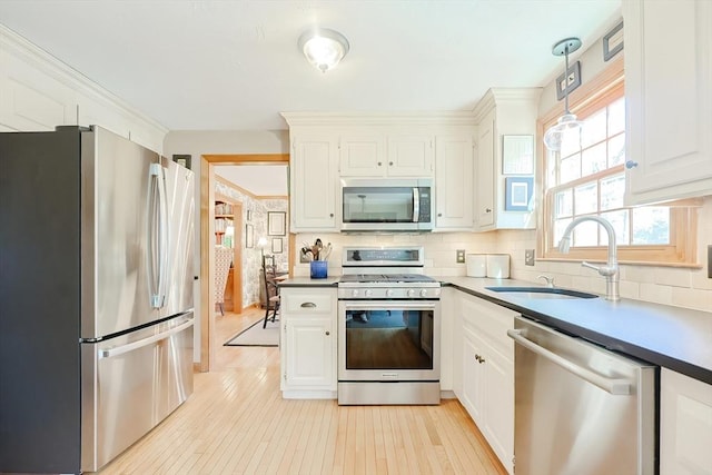
[[[431,231],[433,179],[342,179],[342,231]]]

